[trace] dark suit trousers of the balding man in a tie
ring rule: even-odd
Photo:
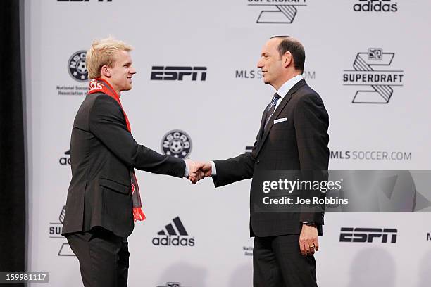
[[[301,255],[299,234],[255,237],[254,287],[317,287],[314,256]]]

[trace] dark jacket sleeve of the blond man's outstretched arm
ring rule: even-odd
[[[183,177],[185,162],[137,144],[127,131],[118,103],[106,95],[97,96],[89,113],[89,129],[106,147],[129,167]]]

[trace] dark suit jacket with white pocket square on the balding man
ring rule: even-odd
[[[282,98],[268,126],[263,130],[266,109],[263,111],[261,129],[251,153],[227,160],[215,160],[217,175],[215,187],[242,179],[254,179],[268,170],[327,170],[329,117],[320,96],[302,79]],[[287,118],[273,124],[274,120]],[[250,194],[250,235],[277,236],[299,234],[301,222],[316,222],[322,234],[323,213],[319,212],[255,212],[254,198],[258,189]],[[262,189],[260,189],[262,192]]]

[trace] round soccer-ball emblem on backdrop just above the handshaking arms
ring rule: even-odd
[[[174,129],[163,136],[161,149],[165,155],[175,158],[187,158],[192,151],[192,141],[185,132]]]

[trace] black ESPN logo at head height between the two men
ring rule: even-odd
[[[198,77],[200,75],[200,77]],[[182,81],[185,77],[192,81],[206,80],[206,67],[182,67],[182,66],[153,66],[151,79],[157,81]]]

